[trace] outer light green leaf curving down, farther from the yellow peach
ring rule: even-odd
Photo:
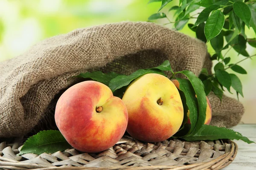
[[[178,71],[177,73],[184,74],[189,79],[189,81],[191,82],[191,84],[194,88],[194,91],[195,91],[195,94],[196,94],[197,100],[198,100],[198,120],[195,125],[195,130],[191,131],[192,133],[190,135],[192,135],[192,134],[197,133],[197,131],[202,127],[202,125],[205,122],[207,101],[206,101],[206,95],[204,93],[204,84],[191,71],[185,70],[185,71]],[[189,119],[190,119],[190,115],[189,115]]]

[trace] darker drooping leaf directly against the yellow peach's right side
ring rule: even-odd
[[[185,95],[186,105],[190,112],[189,113],[189,119],[191,122],[191,128],[189,130],[189,133],[190,133],[195,130],[195,126],[198,121],[198,100],[195,97],[195,90],[188,79],[177,78],[177,80],[180,83],[180,91],[182,91],[183,94]]]

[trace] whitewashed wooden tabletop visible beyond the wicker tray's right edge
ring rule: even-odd
[[[239,124],[231,129],[256,142],[256,124]],[[234,142],[238,145],[236,158],[222,170],[256,170],[256,144],[247,144],[240,140]]]

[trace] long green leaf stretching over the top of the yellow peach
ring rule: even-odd
[[[135,71],[129,76],[122,75],[114,79],[111,79],[108,87],[114,92],[122,87],[129,85],[134,79],[137,79],[138,77],[143,76],[144,74],[156,73],[156,74],[164,75],[163,71],[171,71],[173,73],[170,62],[168,60],[164,61],[163,64],[157,67],[150,68],[150,69],[141,69],[141,70]]]

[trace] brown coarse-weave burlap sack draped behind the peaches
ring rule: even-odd
[[[0,63],[0,137],[20,136],[54,125],[61,93],[87,70],[131,74],[168,59],[174,71],[196,75],[212,62],[204,42],[154,23],[114,23],[72,31],[44,40],[26,53]],[[243,105],[214,94],[212,125],[234,126]]]

